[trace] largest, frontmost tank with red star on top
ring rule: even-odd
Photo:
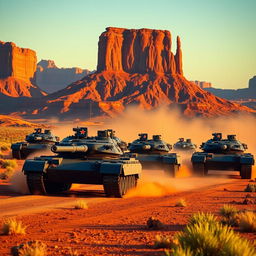
[[[56,155],[25,161],[23,172],[31,194],[60,193],[78,183],[103,185],[106,196],[123,197],[136,187],[141,164],[123,155],[123,142],[113,130],[98,131],[93,137],[86,127],[73,131],[52,146]]]

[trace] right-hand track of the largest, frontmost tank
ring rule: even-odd
[[[129,189],[136,185],[137,177],[135,175],[103,177],[104,192],[108,197],[123,197]]]

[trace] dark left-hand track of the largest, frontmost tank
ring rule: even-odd
[[[32,195],[45,195],[44,177],[41,173],[28,173],[27,184]]]

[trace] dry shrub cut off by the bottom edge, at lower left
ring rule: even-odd
[[[46,256],[46,244],[41,241],[29,241],[11,249],[13,256]]]

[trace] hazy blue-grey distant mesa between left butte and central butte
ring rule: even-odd
[[[53,60],[41,60],[37,64],[36,83],[44,91],[52,93],[64,89],[89,73],[87,69],[58,68]]]

